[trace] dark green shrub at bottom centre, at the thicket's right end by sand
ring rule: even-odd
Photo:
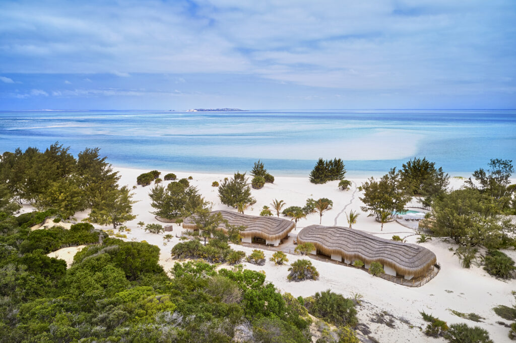
[[[330,289],[316,293],[313,299],[308,307],[311,315],[324,319],[337,328],[345,325],[354,327],[358,323],[353,300],[333,293]]]

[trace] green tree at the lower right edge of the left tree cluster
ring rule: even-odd
[[[91,209],[88,221],[100,225],[112,225],[113,229],[116,229],[124,222],[136,218],[133,215],[133,204],[136,201],[132,198],[133,194],[127,186],[104,191],[95,200],[97,205]]]

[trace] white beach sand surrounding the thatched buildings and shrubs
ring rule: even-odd
[[[136,177],[148,170],[116,168],[119,170],[122,178],[120,184],[127,184],[130,187],[136,185]],[[149,169],[151,170],[151,169]],[[160,170],[162,177],[170,171]],[[172,170],[172,172],[174,172]],[[217,174],[196,174],[174,172],[178,179],[192,176],[191,185],[199,188],[200,193],[206,200],[213,202],[214,210],[228,210],[229,208],[220,203],[218,199],[217,187],[212,187],[213,181],[222,180],[224,177],[232,177],[232,175]],[[272,199],[284,200],[286,207],[291,205],[303,206],[308,198],[318,199],[326,197],[333,200],[333,209],[326,212],[322,217],[322,225],[340,225],[347,226],[345,212],[349,210],[360,211],[362,204],[359,196],[360,192],[356,190],[356,186],[360,185],[366,178],[351,179],[352,187],[349,191],[341,191],[337,188],[337,181],[328,182],[323,185],[315,185],[310,183],[308,177],[276,177],[274,184],[266,184],[261,190],[252,190],[253,196],[257,202],[252,208],[245,211],[246,214],[258,215],[263,205],[269,205]],[[451,187],[459,188],[464,180],[450,179]],[[514,181],[513,181],[514,182]],[[164,185],[169,181],[163,182]],[[146,224],[159,223],[154,219],[153,211],[150,205],[148,193],[152,186],[138,186],[134,200],[138,202],[134,205],[134,213],[137,218],[127,222],[126,226],[131,228],[132,232],[124,232],[127,235],[125,241],[147,241],[150,244],[157,245],[161,249],[159,263],[166,271],[174,265],[176,261],[170,258],[170,250],[173,245],[179,243],[179,238],[175,235],[182,231],[182,227],[173,225],[173,232],[164,234],[152,234],[144,232],[136,225],[138,221],[144,221]],[[270,207],[270,205],[269,205]],[[85,218],[87,212],[76,214],[77,220]],[[314,213],[301,219],[298,222],[297,229],[291,232],[291,236],[296,236],[299,230],[311,224],[319,224],[319,215]],[[168,224],[167,224],[168,225]],[[99,227],[102,229],[110,229],[110,227]],[[407,229],[396,222],[391,222],[383,226],[383,232],[380,232],[380,224],[375,222],[372,217],[367,217],[366,213],[361,213],[354,229],[363,230],[372,234],[376,234],[383,238],[391,238],[393,234],[405,237],[413,234],[414,231]],[[163,236],[167,233],[174,235],[170,242],[164,245]],[[415,243],[417,236],[410,236],[407,241]],[[498,304],[511,305],[511,290],[516,290],[516,282],[497,280],[487,274],[479,267],[464,269],[460,266],[460,262],[452,251],[448,248],[453,244],[443,242],[442,239],[433,239],[423,244],[424,247],[430,249],[437,255],[437,261],[441,264],[441,271],[430,282],[422,287],[406,287],[392,282],[372,277],[368,273],[332,263],[316,261],[311,259],[320,273],[318,281],[304,282],[287,282],[288,265],[275,266],[272,262],[267,261],[265,266],[255,266],[245,263],[245,267],[253,270],[264,270],[266,272],[267,281],[272,282],[281,291],[287,291],[298,296],[311,296],[317,291],[330,288],[332,291],[341,293],[346,297],[350,297],[352,293],[360,293],[363,296],[362,306],[358,307],[359,319],[366,323],[372,331],[372,336],[381,342],[415,342],[428,341],[439,342],[443,339],[435,339],[426,337],[418,327],[424,327],[426,323],[421,318],[419,311],[431,313],[448,323],[464,322],[470,326],[478,325],[489,331],[491,338],[495,342],[508,341],[508,330],[496,321],[503,321],[502,318],[496,316],[491,310]],[[234,249],[245,251],[249,254],[252,248],[233,245]],[[70,249],[70,248],[65,248]],[[61,249],[63,250],[63,249]],[[61,251],[59,250],[59,251]],[[72,250],[73,251],[73,250]],[[73,252],[75,253],[75,252]],[[272,255],[272,251],[265,250],[267,259]],[[513,259],[516,259],[516,253],[513,250],[506,251]],[[52,255],[55,252],[49,254]],[[72,252],[70,252],[72,254]],[[73,255],[71,256],[73,259]],[[290,262],[300,259],[301,256],[288,255]],[[227,266],[227,268],[231,268]],[[484,322],[476,323],[470,320],[459,318],[452,313],[456,310],[463,313],[476,313],[486,319]],[[407,319],[409,324],[402,323],[398,319],[394,321],[395,328],[391,329],[384,324],[376,324],[369,321],[374,317],[375,313],[388,311],[396,318]]]

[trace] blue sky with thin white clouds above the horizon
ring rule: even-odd
[[[0,0],[0,110],[514,109],[516,1]]]

